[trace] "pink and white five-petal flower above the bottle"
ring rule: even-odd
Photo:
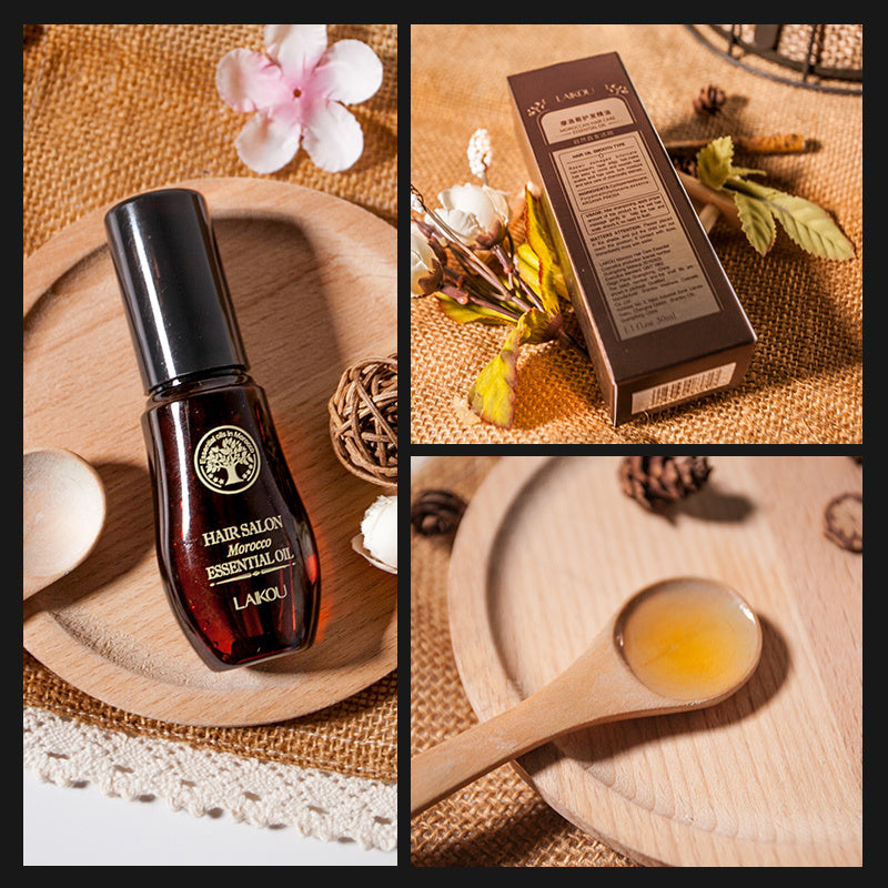
[[[325,24],[266,24],[264,42],[264,53],[232,50],[215,72],[222,101],[252,114],[235,140],[238,157],[254,172],[272,173],[301,145],[322,170],[347,170],[364,137],[345,105],[382,84],[376,53],[360,40],[327,46]]]

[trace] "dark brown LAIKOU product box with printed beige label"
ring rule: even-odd
[[[614,425],[736,386],[756,335],[617,53],[508,84]]]

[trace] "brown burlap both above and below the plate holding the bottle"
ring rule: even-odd
[[[141,190],[209,176],[253,175],[234,139],[248,120],[222,103],[219,60],[262,51],[261,24],[26,24],[23,252],[65,225]],[[394,223],[397,178],[395,26],[329,27],[330,42],[363,40],[383,83],[353,113],[364,151],[342,173],[304,151],[269,176],[349,200]],[[379,780],[396,779],[396,673],[312,716],[256,728],[189,728],[105,706],[24,654],[24,704],[109,729],[178,739],[264,760]],[[372,741],[365,741],[372,740]]]

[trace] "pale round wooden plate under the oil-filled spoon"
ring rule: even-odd
[[[823,532],[862,490],[846,456],[714,456],[670,517],[617,481],[618,457],[507,456],[460,525],[453,646],[486,719],[565,668],[633,591],[695,574],[764,627],[741,690],[698,713],[577,731],[519,761],[564,817],[647,864],[862,862],[862,556]]]

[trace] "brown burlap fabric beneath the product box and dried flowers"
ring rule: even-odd
[[[743,385],[613,428],[594,372],[555,344],[524,349],[512,430],[467,424],[457,404],[498,351],[502,329],[458,325],[433,299],[411,301],[414,443],[860,443],[862,441],[862,97],[815,92],[733,64],[682,24],[434,26],[411,30],[411,180],[432,205],[477,182],[466,148],[488,130],[494,188],[521,192],[506,75],[617,51],[664,140],[798,132],[801,154],[738,158],[767,183],[829,211],[854,243],[816,259],[779,231],[759,256],[738,231],[710,232],[759,343]],[[760,65],[766,69],[767,65]],[[777,70],[776,67],[774,70]],[[723,113],[694,114],[709,84]]]

